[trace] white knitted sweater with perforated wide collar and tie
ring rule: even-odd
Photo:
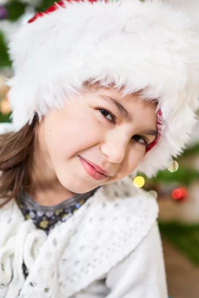
[[[167,298],[157,214],[129,178],[98,189],[48,236],[9,202],[0,210],[0,298]]]

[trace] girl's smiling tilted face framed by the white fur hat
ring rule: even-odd
[[[40,128],[48,169],[67,190],[85,193],[137,167],[157,136],[156,104],[89,89],[51,111]]]

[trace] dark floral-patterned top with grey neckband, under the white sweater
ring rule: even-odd
[[[54,206],[41,206],[27,193],[22,192],[19,208],[26,220],[31,219],[35,226],[47,234],[58,222],[64,222],[78,210],[96,190],[73,197]]]

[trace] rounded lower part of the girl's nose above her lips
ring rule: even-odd
[[[110,163],[121,163],[126,154],[129,140],[124,135],[109,134],[101,145],[101,152],[108,157]]]

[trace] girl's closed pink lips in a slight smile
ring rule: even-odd
[[[79,156],[80,161],[82,165],[84,166],[86,172],[92,176],[96,180],[103,180],[108,176],[108,173],[102,169],[99,165],[96,163],[93,163],[92,161],[89,161],[88,159],[84,159],[81,156]]]

